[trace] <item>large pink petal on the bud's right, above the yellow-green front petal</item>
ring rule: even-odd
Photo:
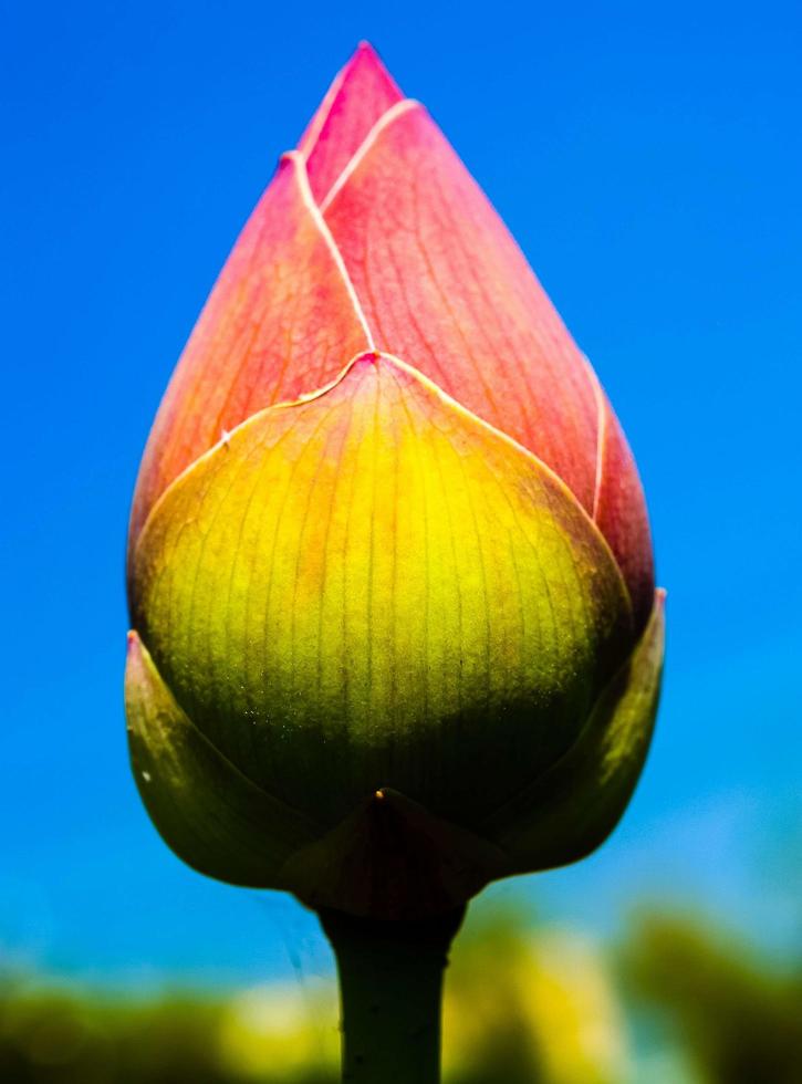
[[[645,619],[654,591],[648,521],[618,424],[504,225],[413,105],[386,115],[322,205],[374,341],[533,451],[589,512],[598,510]]]

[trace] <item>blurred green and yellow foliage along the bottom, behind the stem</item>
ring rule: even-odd
[[[444,1080],[802,1084],[800,962],[696,918],[642,915],[612,953],[480,906],[448,973]],[[134,997],[0,976],[3,1084],[335,1084],[337,1047],[330,981]]]

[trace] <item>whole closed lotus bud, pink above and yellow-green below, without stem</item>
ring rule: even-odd
[[[633,458],[366,45],[179,361],[129,596],[135,775],[202,873],[415,918],[583,856],[628,802],[663,656]]]

